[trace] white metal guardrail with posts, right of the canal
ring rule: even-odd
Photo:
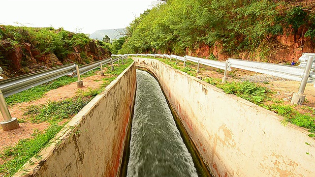
[[[137,56],[140,54],[137,54]],[[312,83],[315,81],[315,63],[314,58],[315,54],[311,53],[302,53],[301,61],[304,67],[296,67],[296,66],[288,66],[288,65],[281,65],[281,64],[273,64],[267,62],[257,62],[257,61],[249,61],[249,60],[242,60],[242,59],[227,59],[224,62],[215,61],[210,59],[201,59],[197,57],[185,56],[179,57],[175,55],[166,55],[166,54],[155,54],[158,57],[166,57],[170,60],[177,59],[184,61],[184,67],[186,67],[186,60],[198,63],[197,66],[197,73],[199,72],[199,65],[204,64],[207,66],[219,68],[224,70],[224,77],[222,78],[222,83],[227,81],[227,71],[231,70],[231,67],[245,69],[249,71],[254,71],[263,74],[269,74],[272,76],[282,77],[286,79],[291,79],[295,81],[301,81],[299,91],[293,94],[291,104],[299,104],[301,105],[304,102],[305,95],[304,89],[306,83]],[[309,61],[310,60],[310,61]],[[306,62],[307,61],[307,62]],[[315,85],[314,85],[315,87]]]

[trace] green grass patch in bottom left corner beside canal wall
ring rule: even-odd
[[[62,125],[52,124],[45,132],[35,132],[33,138],[20,140],[14,147],[5,148],[0,158],[7,160],[0,165],[0,174],[4,177],[13,176],[32,156],[38,155],[39,151],[49,145],[49,141],[62,129]]]

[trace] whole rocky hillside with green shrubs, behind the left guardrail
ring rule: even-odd
[[[102,41],[63,29],[0,26],[0,67],[14,77],[66,63],[110,58]]]

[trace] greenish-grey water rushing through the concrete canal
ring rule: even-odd
[[[137,70],[127,177],[197,177],[158,82]]]

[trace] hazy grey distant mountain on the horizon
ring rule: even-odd
[[[125,33],[126,29],[102,29],[102,30],[97,30],[93,32],[90,35],[90,38],[92,39],[99,39],[102,40],[105,35],[108,35],[111,41],[114,39],[119,39],[120,37],[123,37],[121,33]]]

